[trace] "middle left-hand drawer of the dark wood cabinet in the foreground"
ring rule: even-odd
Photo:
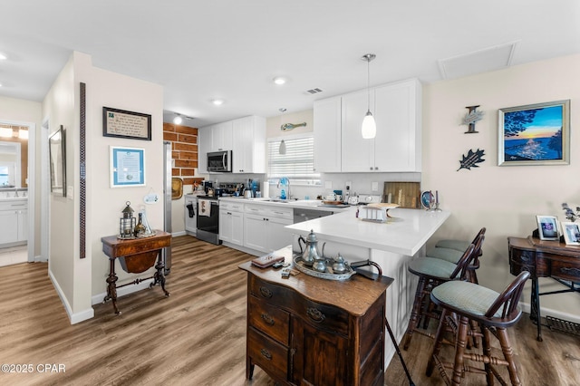
[[[255,296],[248,296],[248,323],[276,341],[288,344],[290,314],[274,305],[266,304]]]

